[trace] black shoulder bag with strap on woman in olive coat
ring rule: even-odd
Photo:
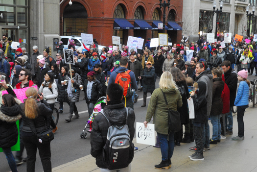
[[[162,90],[162,89],[161,89]],[[163,90],[162,90],[163,92]],[[164,94],[164,92],[163,92]],[[168,108],[168,126],[169,126],[169,131],[171,132],[178,132],[181,130],[181,122],[180,122],[180,114],[178,111],[170,110],[168,107],[168,102],[166,99],[166,96],[164,94],[164,99]]]

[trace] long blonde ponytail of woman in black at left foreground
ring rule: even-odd
[[[25,111],[25,116],[28,119],[35,119],[38,116],[38,105],[35,101],[35,99],[38,98],[38,91],[36,88],[34,87],[30,87],[27,89],[27,91],[25,92],[26,94],[26,101],[25,101],[25,107],[24,107],[24,111]]]

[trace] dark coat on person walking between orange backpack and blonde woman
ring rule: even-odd
[[[150,69],[145,68],[143,70],[143,75],[141,75],[141,78],[143,78],[143,92],[144,93],[153,93],[155,90],[155,69],[151,67]]]

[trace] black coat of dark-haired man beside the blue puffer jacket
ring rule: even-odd
[[[224,73],[224,76],[225,83],[228,85],[230,90],[230,107],[233,107],[237,88],[237,74],[234,69],[230,68],[229,71]]]

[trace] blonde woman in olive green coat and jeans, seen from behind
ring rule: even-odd
[[[187,91],[188,92],[188,91]],[[170,110],[177,111],[182,106],[182,98],[178,87],[170,72],[164,72],[159,82],[159,88],[155,89],[147,107],[144,126],[147,127],[153,117],[155,131],[157,132],[162,152],[162,162],[155,165],[156,169],[169,169],[174,150],[174,132],[168,127],[168,108],[164,100],[164,94]]]

